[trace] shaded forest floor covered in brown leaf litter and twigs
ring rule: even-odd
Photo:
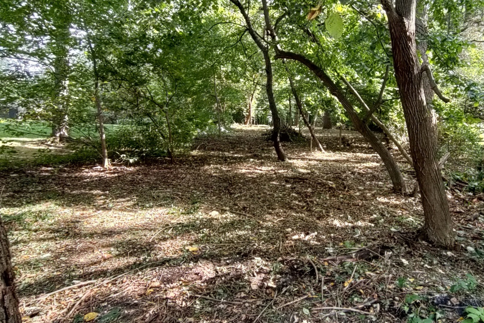
[[[265,130],[175,164],[2,172],[24,321],[456,322],[483,305],[483,195],[448,191],[461,248],[439,249],[359,135],[339,151],[319,129],[326,154],[284,143],[280,163]]]

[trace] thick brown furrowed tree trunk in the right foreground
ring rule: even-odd
[[[436,158],[437,142],[432,114],[425,104],[422,74],[415,44],[416,0],[381,0],[387,12],[392,40],[393,65],[407,123],[413,167],[422,196],[423,233],[432,243],[454,246],[449,203]],[[428,65],[426,71],[430,71]],[[438,93],[439,94],[439,93]]]

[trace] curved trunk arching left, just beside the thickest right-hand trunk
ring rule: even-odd
[[[366,123],[363,123],[356,111],[354,110],[351,103],[346,98],[345,94],[333,83],[331,78],[315,63],[311,62],[304,56],[300,54],[295,54],[292,52],[285,52],[282,50],[278,50],[276,54],[276,59],[290,59],[295,60],[303,63],[306,65],[319,79],[323,82],[324,86],[328,88],[328,90],[333,94],[338,101],[341,103],[343,108],[345,108],[346,112],[348,113],[349,119],[355,129],[362,134],[362,136],[370,143],[372,148],[377,152],[377,154],[383,160],[385,167],[390,175],[390,179],[392,180],[393,189],[396,192],[404,193],[406,191],[405,181],[403,179],[402,173],[400,172],[400,168],[398,167],[397,163],[393,159],[393,156],[390,154],[388,149],[381,143],[381,141],[375,136],[375,134],[368,128]]]

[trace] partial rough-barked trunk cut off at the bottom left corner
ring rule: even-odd
[[[7,231],[0,217],[0,323],[21,323]]]

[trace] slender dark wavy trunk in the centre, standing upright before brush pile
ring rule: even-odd
[[[274,93],[272,90],[272,62],[271,57],[269,56],[269,46],[266,46],[262,43],[262,39],[257,35],[257,32],[252,27],[252,23],[250,21],[249,15],[247,15],[242,3],[239,0],[230,0],[233,4],[239,8],[242,16],[244,17],[245,24],[247,25],[247,30],[249,31],[250,36],[256,43],[257,47],[259,47],[262,55],[264,56],[265,62],[265,70],[266,70],[266,92],[267,92],[267,99],[269,100],[269,109],[271,110],[272,114],[272,142],[274,143],[274,149],[277,154],[277,158],[280,161],[286,161],[287,157],[282,149],[281,140],[280,140],[280,131],[281,131],[281,118],[279,117],[279,112],[277,111],[277,106],[274,100]],[[262,1],[262,5],[264,6],[264,1]],[[267,21],[266,21],[267,25]],[[266,28],[271,29],[272,27],[267,25]]]

